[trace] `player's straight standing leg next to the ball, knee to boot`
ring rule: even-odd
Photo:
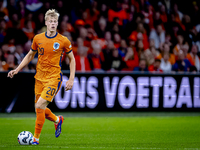
[[[42,97],[35,103],[36,110],[36,121],[35,121],[35,132],[33,138],[33,145],[39,144],[39,138],[42,131],[43,124],[45,122],[45,109],[49,102]]]

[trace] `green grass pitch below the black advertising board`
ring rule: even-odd
[[[200,150],[200,113],[56,113],[65,117],[55,138],[46,120],[40,145],[21,146],[21,131],[34,133],[34,113],[0,113],[0,150]]]

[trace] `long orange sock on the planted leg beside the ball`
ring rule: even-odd
[[[45,122],[45,110],[36,108],[36,117],[34,137],[39,139],[43,124]]]

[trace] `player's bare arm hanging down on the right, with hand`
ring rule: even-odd
[[[66,82],[66,87],[65,87],[66,91],[72,89],[72,86],[74,84],[74,76],[75,76],[75,68],[76,68],[76,62],[75,62],[73,52],[70,52],[69,54],[67,54],[67,57],[69,58],[70,76],[69,76],[69,80]]]

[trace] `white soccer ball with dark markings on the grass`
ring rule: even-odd
[[[33,134],[29,131],[22,131],[17,137],[20,145],[31,145],[33,140]]]

